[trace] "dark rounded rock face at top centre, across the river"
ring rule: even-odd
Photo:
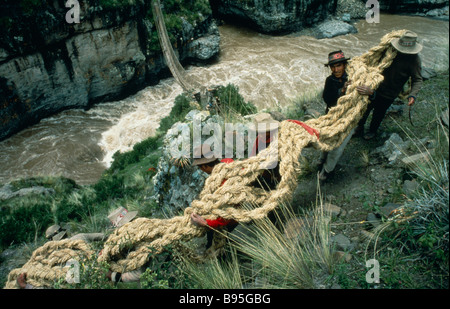
[[[337,0],[210,0],[215,16],[240,21],[257,31],[279,34],[298,31],[324,20]]]

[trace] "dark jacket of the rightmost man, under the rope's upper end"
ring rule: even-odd
[[[377,89],[377,96],[395,100],[411,77],[409,96],[416,97],[422,87],[422,64],[419,55],[398,53],[390,67],[383,72],[384,80]]]

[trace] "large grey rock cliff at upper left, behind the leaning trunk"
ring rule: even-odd
[[[0,4],[0,140],[61,110],[120,99],[170,74],[148,1],[80,0],[80,23],[66,21],[66,2]],[[173,43],[181,61],[207,60],[219,52],[218,29],[207,0],[190,2],[207,9],[172,16]]]

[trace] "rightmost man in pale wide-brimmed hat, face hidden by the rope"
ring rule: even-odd
[[[417,34],[408,30],[400,38],[393,39],[391,45],[397,50],[397,56],[391,66],[384,70],[384,80],[378,89],[375,91],[366,85],[357,87],[360,94],[375,96],[369,103],[367,111],[357,127],[357,133],[362,134],[364,124],[370,112],[373,110],[369,132],[364,135],[366,140],[375,137],[387,109],[398,97],[410,77],[411,91],[408,96],[409,106],[415,103],[417,93],[422,87],[422,64],[418,55],[422,50],[422,45],[417,42]]]

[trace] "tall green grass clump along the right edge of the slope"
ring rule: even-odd
[[[436,107],[435,120],[431,121],[436,124],[434,151],[417,141],[411,130],[402,128],[413,148],[424,158],[407,165],[409,174],[417,180],[420,187],[413,198],[406,200],[386,222],[374,230],[371,240],[376,248],[382,236],[385,236],[402,243],[402,250],[432,261],[443,261],[448,277],[449,139],[448,128],[442,125],[439,117],[440,112]]]

